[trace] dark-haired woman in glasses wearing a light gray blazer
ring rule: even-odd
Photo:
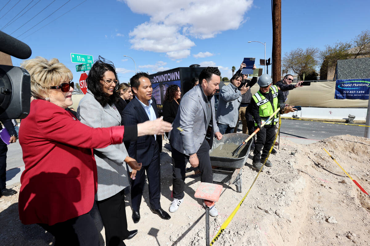
[[[114,65],[99,57],[91,67],[86,82],[88,90],[77,109],[80,121],[95,128],[121,125],[121,115],[114,105],[119,87]],[[157,121],[152,124],[158,128],[161,123]],[[123,143],[94,149],[94,157],[98,174],[95,201],[105,228],[105,242],[107,246],[125,245],[123,240],[131,239],[137,233],[137,230],[127,230],[123,191],[129,186],[126,163],[132,179],[141,169],[141,163],[128,156]]]

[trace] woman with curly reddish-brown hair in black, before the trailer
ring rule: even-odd
[[[162,108],[163,120],[173,123],[177,110],[179,109],[179,99],[181,97],[181,90],[176,84],[170,85],[164,96],[164,103]]]

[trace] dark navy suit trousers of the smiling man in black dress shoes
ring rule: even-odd
[[[148,178],[149,203],[152,209],[161,208],[161,167],[159,162],[159,147],[155,141],[155,150],[151,163],[142,166],[136,173],[136,178],[131,183],[132,209],[139,211],[142,191],[145,184],[145,172]]]

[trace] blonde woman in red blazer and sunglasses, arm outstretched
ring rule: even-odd
[[[55,58],[41,57],[22,66],[31,75],[31,94],[36,100],[19,132],[25,163],[20,219],[53,234],[55,245],[98,245],[98,231],[88,214],[97,189],[91,148],[163,133],[171,129],[170,124],[156,120],[129,127],[88,127],[65,110],[72,105],[74,86],[67,67]]]

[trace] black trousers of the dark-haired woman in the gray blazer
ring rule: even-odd
[[[127,230],[125,192],[121,190],[114,196],[96,201],[105,229],[107,246],[124,246],[123,242],[129,235]]]

